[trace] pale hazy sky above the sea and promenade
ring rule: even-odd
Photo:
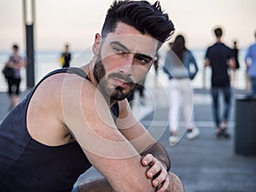
[[[112,2],[35,0],[35,49],[60,50],[64,44],[70,44],[72,50],[90,47],[96,32],[101,32]],[[11,49],[14,43],[21,50],[26,49],[22,3],[22,0],[0,0],[0,51]],[[247,48],[255,41],[255,0],[160,0],[160,3],[175,25],[174,37],[183,34],[189,49],[206,49],[214,43],[212,31],[216,26],[224,28],[223,41],[229,46],[236,40],[239,47]],[[30,24],[29,17],[27,23]]]

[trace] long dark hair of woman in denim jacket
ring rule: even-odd
[[[172,51],[177,55],[180,61],[183,61],[184,52],[187,50],[185,46],[185,38],[183,35],[177,35],[172,43]]]

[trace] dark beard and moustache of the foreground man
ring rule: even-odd
[[[122,73],[109,73],[106,75],[106,70],[102,64],[101,56],[98,57],[96,65],[93,69],[94,77],[104,96],[108,96],[110,100],[121,101],[130,96],[137,89],[138,84],[134,83],[130,77],[125,77]],[[125,81],[129,85],[129,90],[120,86],[111,88],[108,84],[108,79],[118,78]]]

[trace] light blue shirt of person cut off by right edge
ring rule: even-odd
[[[254,36],[256,40],[256,31]],[[256,42],[251,44],[247,49],[245,61],[247,65],[247,74],[251,79],[251,90],[253,92],[253,96],[256,96]]]

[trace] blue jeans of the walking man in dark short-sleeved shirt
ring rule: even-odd
[[[220,119],[219,115],[219,101],[218,97],[220,92],[224,94],[224,113]],[[212,113],[215,125],[219,126],[221,121],[227,121],[230,115],[230,102],[231,102],[231,88],[226,87],[212,87]]]

